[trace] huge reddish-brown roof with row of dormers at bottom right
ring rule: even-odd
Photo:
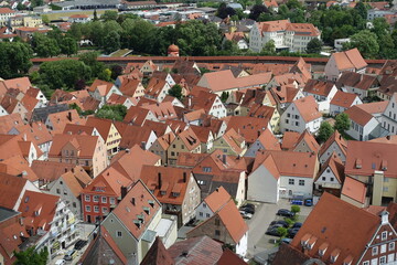
[[[298,251],[301,242],[310,242],[313,246],[307,254],[311,257],[328,262],[337,251],[334,264],[343,264],[348,257],[356,264],[379,224],[379,216],[324,192],[290,245]],[[322,257],[318,255],[320,248],[324,250]]]

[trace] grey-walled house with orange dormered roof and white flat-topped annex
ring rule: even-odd
[[[103,226],[124,256],[140,264],[159,235],[165,247],[176,240],[176,222],[161,218],[161,204],[141,180],[125,194]],[[131,253],[135,253],[131,256]]]

